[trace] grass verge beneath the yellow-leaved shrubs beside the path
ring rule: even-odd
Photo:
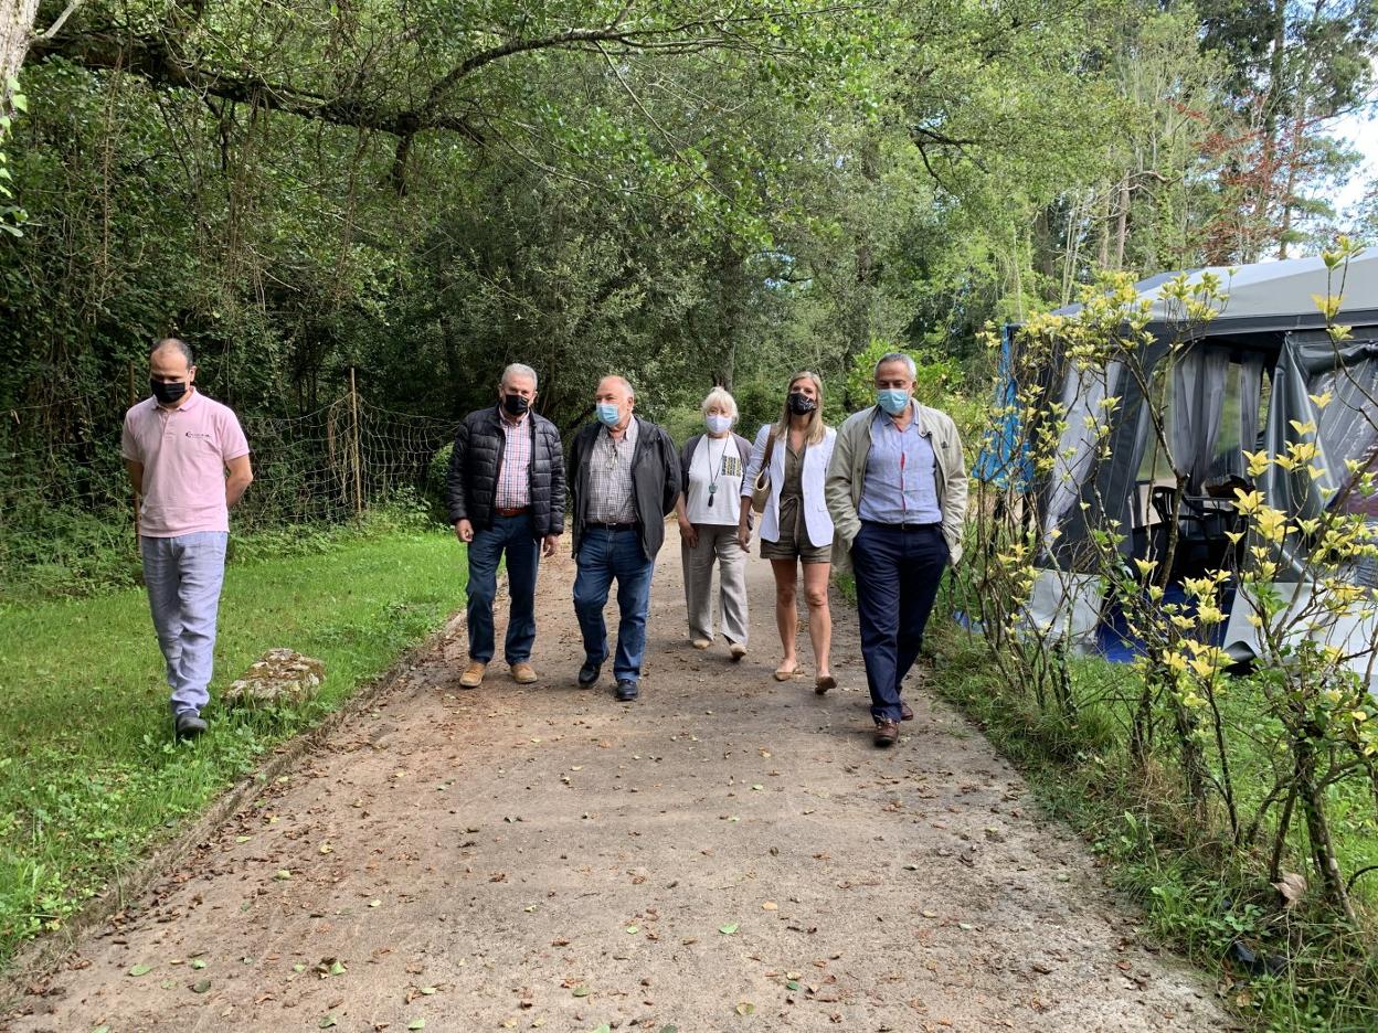
[[[945,698],[971,716],[1025,774],[1039,800],[1076,828],[1107,862],[1107,875],[1142,904],[1151,928],[1210,972],[1225,999],[1254,1029],[1359,1033],[1378,1029],[1378,953],[1372,927],[1378,880],[1356,884],[1355,904],[1367,928],[1348,930],[1316,908],[1287,912],[1266,880],[1265,851],[1239,853],[1210,831],[1193,828],[1177,802],[1174,774],[1164,767],[1148,781],[1129,759],[1127,713],[1122,704],[1123,665],[1098,658],[1071,664],[1075,722],[1042,712],[1029,697],[1011,694],[991,661],[987,643],[951,621],[936,620],[929,642],[937,654],[929,678]],[[1108,687],[1118,685],[1116,691]],[[1250,683],[1239,680],[1224,697],[1226,719],[1257,720]],[[1261,738],[1266,740],[1266,735]],[[1231,764],[1244,810],[1257,803],[1269,758],[1235,741]],[[1353,784],[1331,789],[1337,854],[1345,870],[1378,862],[1372,799]],[[1217,815],[1218,817],[1218,815]],[[1312,879],[1295,832],[1284,870]],[[1312,881],[1315,881],[1312,879]],[[1287,959],[1277,975],[1258,975],[1231,959],[1242,941]]]

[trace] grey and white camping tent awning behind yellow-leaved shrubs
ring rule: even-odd
[[[1162,274],[1137,285],[1140,298],[1151,303],[1152,344],[1141,357],[1144,366],[1153,368],[1177,346],[1164,388],[1170,456],[1155,455],[1146,399],[1123,364],[1050,371],[1053,384],[1060,384],[1051,395],[1069,417],[1054,471],[1032,485],[1045,569],[1025,617],[1054,636],[1065,635],[1073,646],[1094,647],[1094,614],[1104,610],[1097,580],[1075,573],[1078,548],[1084,547],[1091,529],[1118,521],[1129,532],[1122,551],[1130,559],[1155,555],[1166,522],[1177,519],[1177,559],[1184,565],[1181,574],[1191,576],[1192,563],[1197,572],[1220,565],[1224,536],[1213,511],[1192,512],[1189,505],[1193,499],[1200,505],[1213,481],[1244,474],[1244,449],[1264,445],[1277,455],[1298,441],[1294,421],[1316,423],[1317,463],[1326,477],[1313,483],[1305,471],[1288,475],[1273,470],[1259,485],[1271,504],[1304,518],[1319,515],[1352,481],[1346,461],[1374,463],[1378,470],[1378,406],[1372,401],[1378,399],[1378,251],[1335,269],[1327,269],[1320,258],[1305,258],[1195,270],[1188,274],[1189,285],[1213,275],[1226,299],[1214,320],[1185,333],[1182,314],[1163,296],[1164,285],[1177,275]],[[1327,298],[1339,299],[1334,322],[1350,328],[1349,339],[1338,344],[1326,332],[1322,306]],[[1060,314],[1079,310],[1069,306]],[[1013,337],[1007,335],[1007,340]],[[1335,402],[1320,410],[1310,399],[1326,391]],[[1118,397],[1118,406],[1104,409],[1100,401],[1105,397]],[[1089,416],[1109,423],[1108,461],[1094,455],[1098,446],[1087,428]],[[1175,492],[1178,474],[1188,478],[1182,499]],[[1378,519],[1378,500],[1360,501],[1371,507],[1363,511]],[[1306,598],[1313,591],[1302,584],[1302,551],[1287,556],[1291,580],[1279,584],[1287,598]],[[1356,567],[1353,580],[1378,587],[1375,570],[1374,565]],[[1072,583],[1075,591],[1068,591]],[[1250,612],[1240,592],[1222,642],[1242,660],[1258,649],[1247,623]],[[1346,651],[1364,651],[1375,642],[1378,621],[1350,621],[1328,634]],[[1367,657],[1356,667],[1367,667]]]

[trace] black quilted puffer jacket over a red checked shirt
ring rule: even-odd
[[[497,406],[471,412],[459,424],[455,452],[449,457],[449,522],[467,519],[475,530],[493,525],[493,494],[507,438]],[[533,435],[531,450],[531,525],[537,539],[565,530],[565,453],[555,424],[529,413],[526,427]]]

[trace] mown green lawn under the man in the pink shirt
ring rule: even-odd
[[[463,583],[463,550],[433,530],[232,563],[212,730],[196,744],[171,740],[142,589],[0,602],[0,966],[437,629]],[[219,711],[218,689],[273,646],[325,661],[318,698],[252,718]]]

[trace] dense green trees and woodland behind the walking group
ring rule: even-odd
[[[419,452],[514,359],[564,428],[613,369],[672,424],[795,368],[841,413],[878,339],[981,394],[976,332],[1097,270],[1378,229],[1326,135],[1371,107],[1372,0],[3,8],[10,569],[127,511],[167,333],[247,420],[313,420],[314,468],[351,369]]]

